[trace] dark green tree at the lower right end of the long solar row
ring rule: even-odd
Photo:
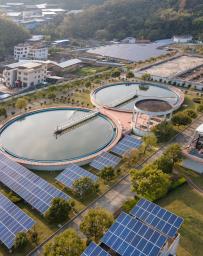
[[[54,198],[50,208],[45,213],[45,218],[50,223],[62,223],[68,218],[71,204],[63,198]]]

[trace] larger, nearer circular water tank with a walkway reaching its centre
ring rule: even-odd
[[[1,128],[1,151],[36,170],[86,164],[121,136],[116,121],[99,112],[88,118],[91,113],[89,109],[56,107],[17,116]],[[67,129],[60,131],[61,127]]]

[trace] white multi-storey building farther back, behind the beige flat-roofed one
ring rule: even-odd
[[[47,60],[48,48],[43,44],[31,45],[28,43],[18,44],[14,47],[15,60]]]

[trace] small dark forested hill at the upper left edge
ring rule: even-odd
[[[29,33],[12,21],[0,17],[0,57],[17,43],[23,42],[29,37]]]

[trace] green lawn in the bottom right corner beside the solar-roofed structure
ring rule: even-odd
[[[188,185],[171,192],[158,202],[161,206],[184,218],[180,230],[178,256],[203,255],[203,197]]]

